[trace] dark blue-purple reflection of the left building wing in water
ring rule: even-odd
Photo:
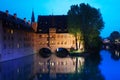
[[[0,80],[29,80],[33,73],[33,56],[0,63]]]

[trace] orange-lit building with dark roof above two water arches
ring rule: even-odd
[[[57,48],[75,48],[75,37],[68,33],[66,15],[38,16],[36,51],[48,47],[55,52]]]

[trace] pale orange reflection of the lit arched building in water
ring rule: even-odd
[[[67,78],[69,74],[80,72],[84,65],[83,57],[65,57],[59,58],[54,54],[48,58],[42,58],[40,56],[35,57],[34,74],[35,80],[47,80]]]

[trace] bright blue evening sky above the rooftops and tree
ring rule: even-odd
[[[0,11],[17,13],[21,19],[31,20],[34,10],[37,21],[38,15],[66,15],[71,5],[88,3],[99,8],[105,23],[100,36],[108,37],[111,32],[120,32],[120,0],[0,0]]]

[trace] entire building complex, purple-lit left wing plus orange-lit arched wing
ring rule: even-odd
[[[39,15],[35,22],[32,11],[31,22],[27,22],[8,10],[0,12],[0,62],[38,53],[42,48],[52,52],[76,49],[75,43],[75,37],[68,33],[67,15]]]

